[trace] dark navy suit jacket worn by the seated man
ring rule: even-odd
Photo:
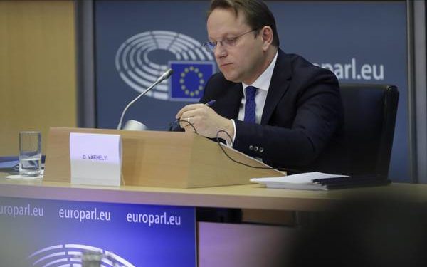
[[[216,73],[201,103],[215,99],[212,108],[219,115],[236,119],[242,97],[241,83]],[[331,158],[340,148],[344,126],[337,78],[301,56],[279,49],[260,125],[235,122],[233,147],[246,155],[279,169],[339,172],[342,162]]]

